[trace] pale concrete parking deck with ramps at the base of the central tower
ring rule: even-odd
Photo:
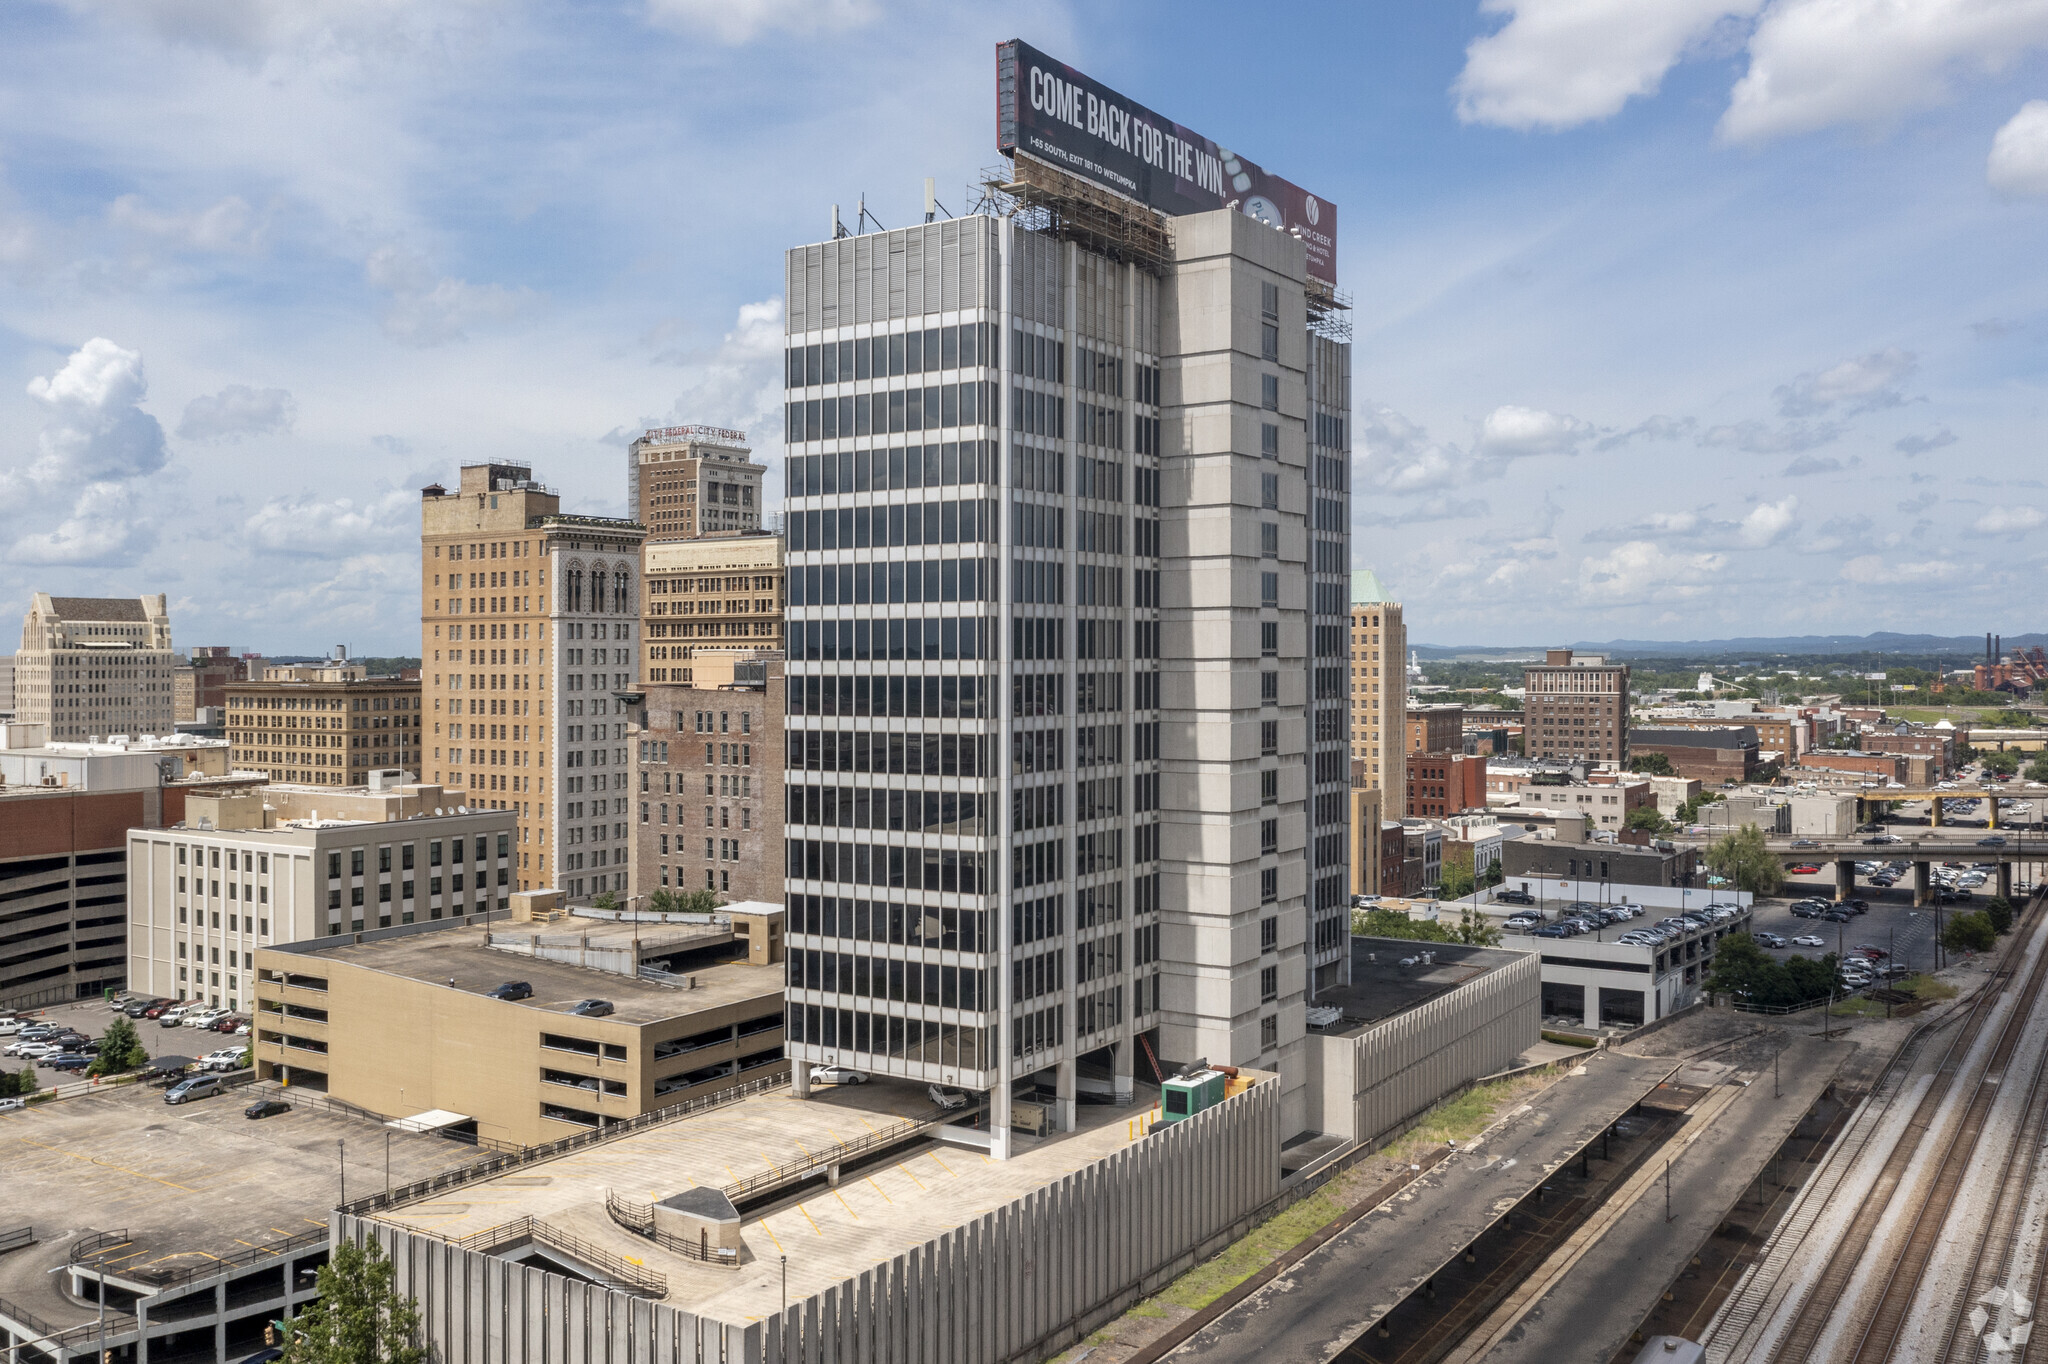
[[[1081,1104],[1075,1133],[1012,1133],[1008,1161],[973,1147],[920,1141],[868,1165],[848,1165],[838,1188],[805,1188],[766,1212],[745,1212],[737,1270],[684,1260],[621,1229],[604,1212],[606,1190],[651,1204],[690,1188],[721,1188],[899,1118],[926,1116],[932,1100],[924,1088],[874,1077],[864,1085],[817,1088],[809,1100],[772,1090],[373,1217],[449,1239],[537,1217],[662,1274],[664,1301],[674,1307],[752,1321],[782,1305],[780,1255],[788,1255],[788,1301],[799,1303],[1143,1141],[1141,1118],[1155,1102],[1157,1088],[1139,1083],[1130,1108]]]

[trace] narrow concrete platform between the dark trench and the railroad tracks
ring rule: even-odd
[[[1853,1051],[1841,1038],[1790,1038],[1780,1063],[1784,1098],[1772,1098],[1767,1063],[1759,1071],[1739,1069],[1735,1077],[1749,1079],[1749,1088],[1671,1163],[1673,1219],[1665,1223],[1663,1180],[1642,1186],[1636,1202],[1614,1217],[1608,1235],[1556,1276],[1481,1358],[1487,1364],[1608,1364]],[[1544,1272],[1546,1266],[1536,1268],[1536,1276]]]

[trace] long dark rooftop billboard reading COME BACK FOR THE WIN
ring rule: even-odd
[[[1298,236],[1309,274],[1337,283],[1337,205],[1018,39],[995,47],[995,145],[1161,213],[1235,207]]]

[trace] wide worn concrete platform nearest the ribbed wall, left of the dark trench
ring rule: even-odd
[[[1483,1145],[1438,1163],[1165,1358],[1323,1364],[1597,1141],[1675,1067],[1677,1061],[1661,1057],[1587,1055],[1583,1073],[1544,1090]]]

